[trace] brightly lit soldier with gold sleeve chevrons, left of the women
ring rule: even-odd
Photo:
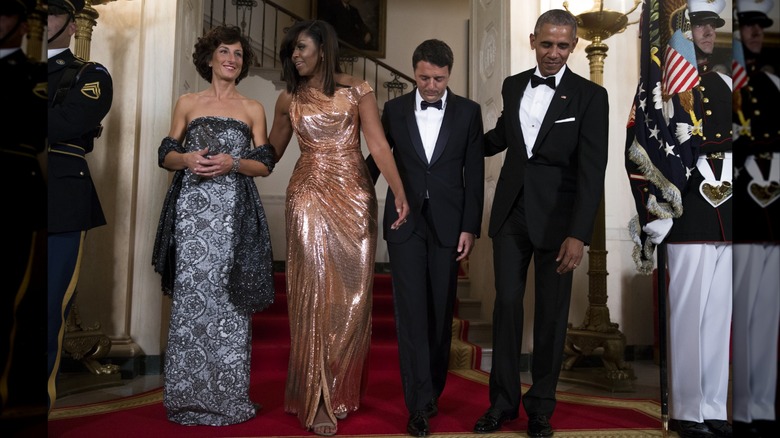
[[[85,155],[100,135],[113,88],[106,68],[76,57],[68,48],[76,13],[84,0],[49,0],[48,69],[48,390],[56,399],[56,377],[65,318],[78,282],[87,230],[106,218]]]

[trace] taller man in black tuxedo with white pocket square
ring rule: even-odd
[[[535,267],[533,383],[523,396],[528,435],[553,434],[572,276],[604,190],[609,103],[603,87],[566,66],[577,45],[577,20],[543,13],[530,35],[537,66],[504,80],[504,109],[485,134],[485,153],[506,151],[488,234],[493,241],[496,297],[490,408],[474,431],[499,430],[518,417],[523,296]]]

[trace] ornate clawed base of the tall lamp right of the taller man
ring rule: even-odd
[[[625,335],[616,327],[592,331],[569,327],[560,380],[595,385],[612,392],[633,392],[636,375],[624,360]],[[601,354],[603,367],[575,368],[580,359]]]

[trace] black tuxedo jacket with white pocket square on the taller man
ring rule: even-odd
[[[487,156],[506,151],[488,234],[499,232],[522,193],[535,247],[555,250],[568,236],[589,244],[607,167],[607,90],[567,68],[528,158],[520,102],[534,70],[504,80],[504,109],[485,134]]]

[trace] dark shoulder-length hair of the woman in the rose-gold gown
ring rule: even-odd
[[[336,30],[328,22],[322,20],[304,20],[293,24],[282,38],[279,45],[279,60],[282,62],[282,80],[287,83],[287,92],[295,93],[302,83],[301,75],[292,61],[298,36],[306,34],[311,37],[318,48],[322,49],[322,89],[328,96],[336,92],[336,73],[341,73],[339,64],[339,40]]]

